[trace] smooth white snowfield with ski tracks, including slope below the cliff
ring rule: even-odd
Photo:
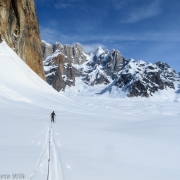
[[[71,98],[0,44],[0,175],[47,179],[54,110],[50,180],[179,180],[178,101]]]

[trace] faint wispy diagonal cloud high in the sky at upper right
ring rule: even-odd
[[[160,2],[154,1],[150,5],[142,8],[137,8],[132,11],[129,17],[123,20],[123,23],[136,23],[140,20],[147,19],[150,17],[157,16],[161,13]]]

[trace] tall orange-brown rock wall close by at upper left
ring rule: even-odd
[[[21,59],[45,79],[34,0],[0,0],[0,34]]]

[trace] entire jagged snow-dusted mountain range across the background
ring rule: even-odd
[[[85,53],[80,44],[74,46],[42,41],[43,62],[47,82],[57,91],[76,86],[76,77],[89,86],[105,84],[99,94],[111,93],[113,87],[128,97],[149,97],[157,91],[176,88],[180,74],[168,64],[127,60],[118,50],[97,48]]]

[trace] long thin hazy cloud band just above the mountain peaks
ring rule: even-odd
[[[93,50],[98,46],[104,47],[101,43],[91,43],[88,42],[117,42],[117,41],[162,41],[162,42],[180,42],[180,33],[178,31],[160,31],[160,32],[144,32],[144,33],[120,33],[117,35],[65,35],[61,31],[57,31],[50,28],[41,27],[42,38],[49,42],[54,43],[60,41],[63,44],[73,42],[83,43],[85,49]]]

